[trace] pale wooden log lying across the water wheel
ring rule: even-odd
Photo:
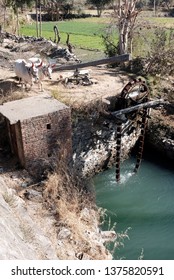
[[[111,115],[113,115],[114,117],[118,117],[120,115],[128,114],[128,113],[131,113],[133,111],[140,110],[140,109],[143,109],[143,108],[153,108],[153,107],[156,107],[156,106],[159,106],[159,105],[168,105],[168,104],[170,104],[168,101],[164,101],[163,99],[159,99],[159,100],[154,100],[154,101],[141,103],[141,104],[132,106],[130,108],[121,109],[119,111],[111,112]]]

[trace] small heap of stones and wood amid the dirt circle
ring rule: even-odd
[[[96,84],[97,80],[92,79],[90,77],[89,70],[78,70],[76,69],[74,73],[67,73],[66,77],[63,78],[60,76],[59,81],[63,83],[65,86],[72,86],[72,85],[83,85],[83,86],[90,86],[92,84]]]

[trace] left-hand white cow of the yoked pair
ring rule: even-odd
[[[34,63],[27,63],[24,59],[17,59],[14,63],[14,71],[18,76],[19,81],[21,81],[27,88],[27,84],[30,85],[30,89],[33,85],[33,78],[38,79],[38,69],[35,67]]]

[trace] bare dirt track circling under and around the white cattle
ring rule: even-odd
[[[6,44],[8,41],[6,42]],[[9,42],[10,44],[10,42]],[[7,102],[22,97],[40,94],[37,84],[32,90],[22,90],[18,84],[13,70],[14,61],[17,58],[27,59],[35,55],[31,52],[12,52],[8,48],[0,47],[0,100]],[[84,69],[83,69],[84,70]],[[128,81],[126,74],[116,69],[107,68],[106,65],[86,68],[93,84],[89,86],[68,84],[65,86],[63,80],[73,75],[73,71],[53,72],[52,80],[43,81],[44,91],[49,91],[59,101],[68,105],[78,106],[94,102],[96,99],[105,99],[108,96],[117,95]]]

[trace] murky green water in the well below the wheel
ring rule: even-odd
[[[114,222],[119,233],[131,228],[114,259],[174,260],[174,170],[158,162],[147,158],[133,174],[135,159],[126,160],[120,183],[115,169],[94,177],[97,205],[107,209],[111,220],[104,228]]]

